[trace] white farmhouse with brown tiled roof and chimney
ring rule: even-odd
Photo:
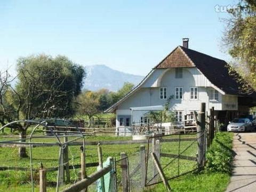
[[[116,112],[117,127],[148,122],[145,114],[162,110],[170,97],[169,108],[178,122],[199,111],[201,102],[208,111],[214,107],[221,122],[249,114],[250,107],[256,106],[255,92],[239,89],[241,84],[229,74],[227,62],[189,49],[188,41],[183,38],[183,46],[176,47],[139,85],[106,110]]]

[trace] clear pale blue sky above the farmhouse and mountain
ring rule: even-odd
[[[0,69],[8,63],[15,73],[17,58],[45,53],[146,75],[183,37],[189,48],[227,59],[220,46],[227,13],[214,7],[235,2],[1,0]]]

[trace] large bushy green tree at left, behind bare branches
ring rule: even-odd
[[[2,125],[14,119],[66,117],[74,113],[72,103],[81,92],[85,76],[81,66],[63,56],[52,58],[41,54],[18,59],[17,72],[15,87],[11,86],[7,73],[1,78]],[[21,139],[26,138],[28,127],[29,124],[11,125],[20,132]],[[26,148],[21,147],[19,153],[20,157],[26,157]]]

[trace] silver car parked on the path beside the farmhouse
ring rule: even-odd
[[[252,131],[252,127],[249,118],[235,118],[229,122],[227,131]]]

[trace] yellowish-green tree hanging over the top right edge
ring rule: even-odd
[[[229,10],[229,15],[223,41],[235,60],[234,69],[256,89],[256,2],[239,1],[236,8]]]

